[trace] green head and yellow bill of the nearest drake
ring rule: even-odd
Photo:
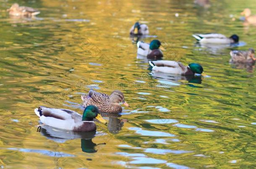
[[[93,119],[97,119],[100,122],[107,124],[107,121],[105,121],[99,114],[99,109],[96,106],[90,105],[84,109],[82,121],[93,121]]]

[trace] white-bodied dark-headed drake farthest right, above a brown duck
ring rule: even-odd
[[[192,35],[199,43],[214,43],[214,44],[231,44],[238,43],[238,35],[232,35],[227,38],[225,35],[219,33],[208,33],[208,34],[193,34]]]

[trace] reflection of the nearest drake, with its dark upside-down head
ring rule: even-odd
[[[47,125],[41,125],[38,130],[47,139],[58,143],[65,143],[65,141],[72,139],[81,139],[81,149],[85,153],[95,153],[97,152],[97,146],[100,144],[95,144],[92,139],[94,138],[96,131],[90,132],[75,132],[67,131],[62,129],[53,128]],[[101,143],[106,144],[106,143]]]

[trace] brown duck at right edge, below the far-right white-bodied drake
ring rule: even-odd
[[[253,48],[249,48],[249,50],[231,50],[230,51],[230,63],[255,63],[255,51]]]

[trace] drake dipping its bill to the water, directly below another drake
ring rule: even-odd
[[[197,63],[190,63],[188,66],[184,66],[176,61],[149,61],[149,65],[153,67],[152,70],[155,72],[184,76],[194,75],[195,73],[202,74],[204,71],[203,67]]]

